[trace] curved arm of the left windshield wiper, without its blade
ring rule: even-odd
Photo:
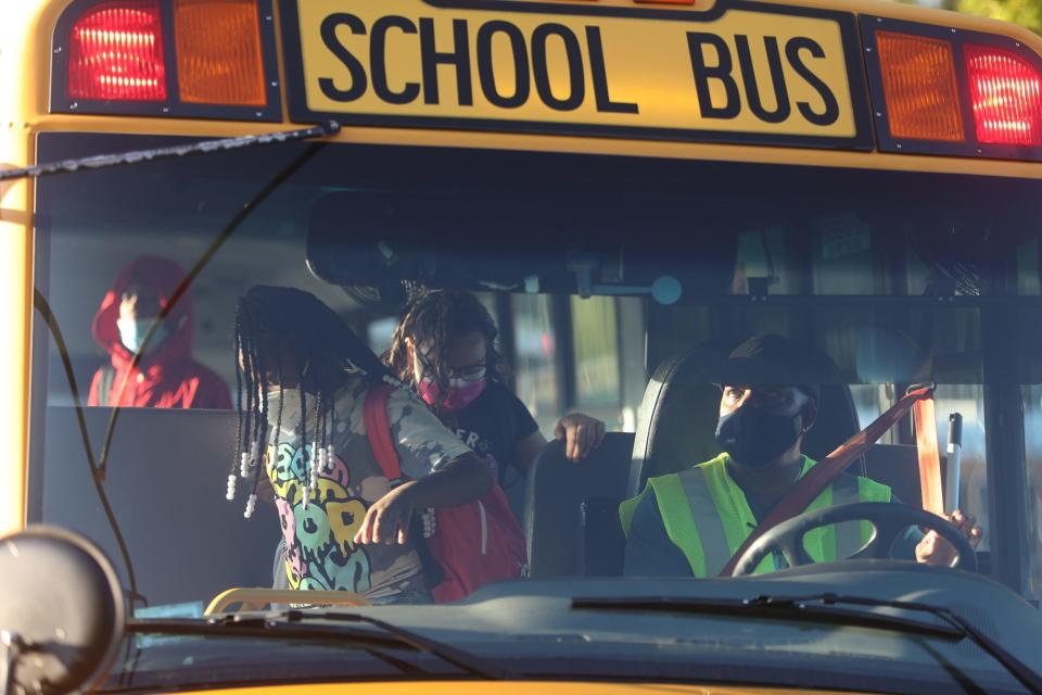
[[[304,622],[330,621],[335,623],[365,623],[379,628],[385,635],[391,635],[398,644],[405,644],[417,652],[424,652],[452,664],[471,675],[476,675],[491,681],[516,680],[516,677],[507,669],[497,664],[493,664],[481,657],[460,649],[459,647],[433,640],[425,635],[406,630],[394,623],[373,618],[359,612],[339,612],[325,610],[300,610],[288,609],[279,611],[269,611],[259,617],[251,616],[228,616],[224,618],[212,618],[211,623],[220,626],[256,626],[264,622],[268,627],[278,627],[287,624],[298,624]],[[304,627],[304,626],[300,626]],[[338,628],[343,629],[343,628]]]

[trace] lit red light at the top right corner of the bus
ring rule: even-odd
[[[1042,147],[1042,75],[1011,51],[973,45],[963,50],[977,140]]]

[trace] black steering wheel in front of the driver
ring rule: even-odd
[[[813,565],[814,559],[803,547],[803,536],[814,529],[843,521],[868,521],[875,528],[875,533],[868,543],[846,559],[890,559],[890,548],[898,536],[908,527],[920,526],[937,531],[942,539],[955,546],[957,555],[952,564],[953,568],[977,571],[977,555],[974,553],[974,546],[946,519],[903,504],[857,502],[804,511],[767,529],[738,558],[732,577],[751,574],[763,558],[774,551],[782,552],[789,567]]]

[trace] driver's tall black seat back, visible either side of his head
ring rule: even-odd
[[[648,478],[683,470],[720,454],[715,428],[720,389],[711,368],[726,351],[701,345],[668,358],[655,370],[640,408],[626,495],[637,495]],[[824,356],[819,356],[824,359]],[[850,389],[822,386],[817,421],[803,440],[803,453],[821,460],[861,428]],[[855,463],[851,472],[861,473]]]

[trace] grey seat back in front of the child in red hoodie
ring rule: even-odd
[[[97,452],[111,408],[85,408]],[[77,531],[113,560],[126,586],[119,547],[91,482],[76,410],[46,413],[42,494],[34,516]],[[109,457],[105,493],[126,539],[138,590],[150,605],[209,599],[231,586],[270,586],[271,551],[281,536],[275,506],[243,518],[246,481],[225,500],[236,446],[231,410],[124,408]],[[40,450],[37,450],[40,451]]]

